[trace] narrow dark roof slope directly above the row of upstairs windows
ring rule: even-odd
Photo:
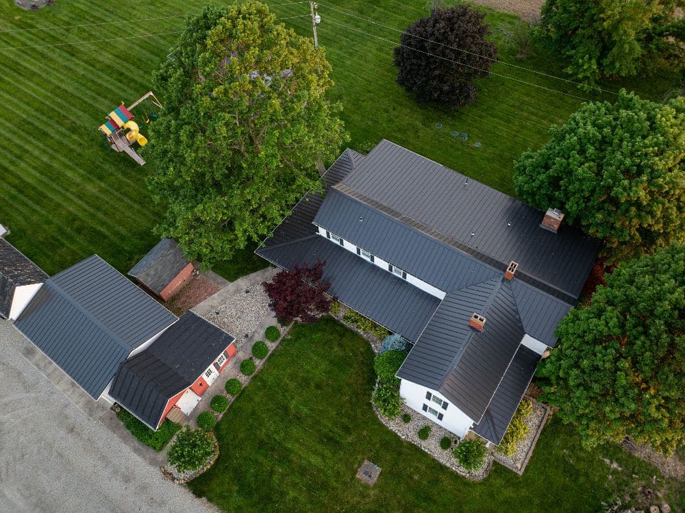
[[[502,274],[336,189],[329,190],[314,223],[444,292]]]

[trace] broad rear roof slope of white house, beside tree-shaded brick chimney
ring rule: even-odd
[[[548,232],[540,210],[387,140],[340,185],[575,298],[600,245],[567,225]]]

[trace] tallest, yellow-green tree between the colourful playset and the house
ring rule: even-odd
[[[266,5],[206,8],[155,73],[164,112],[151,125],[158,226],[211,266],[260,240],[345,141],[323,49],[277,24]]]

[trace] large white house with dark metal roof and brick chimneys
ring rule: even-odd
[[[414,344],[397,373],[406,404],[499,445],[600,242],[387,140],[347,149],[324,179],[257,254],[325,260],[331,295]]]

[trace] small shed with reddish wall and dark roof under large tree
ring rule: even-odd
[[[155,296],[168,301],[192,277],[194,270],[177,242],[164,238],[129,271],[129,276],[136,278]]]

